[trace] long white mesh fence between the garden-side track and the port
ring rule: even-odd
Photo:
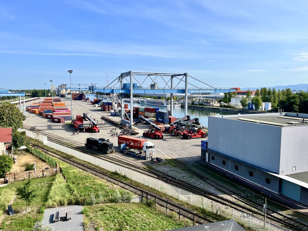
[[[261,218],[251,216],[236,209],[232,209],[229,206],[221,205],[218,202],[212,201],[200,195],[195,195],[191,192],[177,188],[175,186],[165,183],[164,181],[144,175],[140,172],[135,172],[131,169],[121,167],[117,164],[112,164],[105,160],[99,159],[95,156],[79,152],[77,150],[62,146],[61,144],[56,144],[54,142],[47,140],[46,136],[42,135],[38,136],[38,134],[36,134],[35,132],[26,130],[26,136],[29,136],[31,138],[36,137],[35,139],[43,141],[44,145],[47,145],[58,151],[65,152],[69,155],[75,156],[78,159],[87,161],[91,164],[95,164],[100,168],[104,168],[111,172],[116,171],[134,181],[149,186],[150,188],[154,188],[178,200],[185,201],[190,205],[206,209],[209,212],[221,215],[226,219],[234,219],[237,223],[245,225],[246,227],[249,227],[251,229],[255,229],[257,231],[290,231],[290,229],[283,228],[281,226],[272,224],[268,221],[264,221]]]

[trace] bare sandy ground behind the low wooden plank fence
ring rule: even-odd
[[[46,162],[38,159],[34,155],[30,153],[24,153],[22,155],[15,155],[17,156],[18,162],[16,164],[13,164],[11,172],[22,172],[25,171],[25,167],[23,167],[23,164],[30,163],[30,164],[36,164],[36,169],[42,169],[46,167],[50,167]]]

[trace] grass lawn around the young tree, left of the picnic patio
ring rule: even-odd
[[[6,231],[17,230],[32,230],[32,227],[36,221],[43,219],[43,213],[40,213],[40,208],[45,206],[45,202],[48,197],[49,189],[55,179],[55,176],[38,178],[31,180],[31,188],[34,188],[36,197],[34,201],[28,205],[28,213],[26,213],[26,203],[21,199],[15,198],[12,208],[15,212],[14,216],[5,215],[0,225],[0,229]],[[16,187],[23,182],[17,182],[9,184],[0,188],[2,190],[9,189],[10,191],[16,191]]]

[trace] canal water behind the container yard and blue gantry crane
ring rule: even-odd
[[[94,95],[86,95],[86,98],[90,97],[91,100],[93,98],[96,98]],[[103,99],[103,101],[110,101],[108,99]],[[128,103],[128,108],[130,108],[130,103]],[[133,103],[133,107],[156,107],[159,108],[160,111],[167,111],[170,110],[170,107],[158,107],[158,106],[151,106],[151,105],[145,105],[140,103]],[[193,119],[195,117],[199,118],[200,123],[207,127],[208,126],[208,119],[209,115],[230,115],[234,113],[230,112],[222,112],[222,111],[212,111],[212,110],[206,110],[206,109],[199,109],[199,108],[189,108],[187,109],[188,115],[190,115],[190,118]],[[176,118],[182,118],[184,117],[184,107],[173,107],[173,115]]]

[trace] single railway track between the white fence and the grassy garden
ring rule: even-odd
[[[118,186],[120,186],[121,188],[124,188],[124,189],[127,189],[129,190],[130,192],[132,193],[135,193],[136,195],[139,195],[139,196],[144,196],[144,193],[146,193],[146,196],[147,196],[147,202],[148,202],[148,199],[154,199],[155,200],[155,203],[156,204],[159,204],[160,206],[162,207],[167,207],[168,205],[168,209],[175,212],[175,213],[179,213],[179,211],[181,212],[180,215],[182,217],[185,217],[189,220],[192,220],[193,221],[193,224],[205,224],[205,223],[209,223],[209,222],[213,222],[205,217],[201,217],[195,213],[193,213],[192,211],[186,209],[186,208],[183,208],[181,207],[180,205],[176,205],[173,203],[173,201],[170,201],[170,200],[166,200],[166,199],[163,199],[161,197],[159,197],[158,195],[155,195],[154,193],[152,192],[148,192],[146,190],[143,190],[141,188],[137,188],[135,186],[132,186],[130,184],[127,184],[121,180],[118,180],[118,179],[115,179],[107,174],[104,174],[98,170],[96,170],[95,168],[91,168],[89,166],[85,166],[83,164],[80,164],[78,163],[77,161],[74,161],[74,160],[71,160],[70,158],[67,158],[67,157],[63,157],[63,156],[59,156],[57,155],[55,152],[51,152],[50,150],[44,148],[44,147],[41,147],[39,145],[36,145],[34,144],[33,145],[34,148],[38,148],[40,149],[42,152],[48,154],[48,155],[51,155],[55,158],[58,158],[59,160],[62,160],[63,162],[65,163],[68,163],[68,164],[71,164],[79,169],[82,169],[83,171],[86,171],[86,172],[89,172],[95,176],[99,176],[100,178],[104,179],[104,180],[107,180],[108,182],[111,182],[113,184],[116,184]],[[149,198],[148,198],[148,195],[149,195]],[[157,199],[157,200],[156,200]]]

